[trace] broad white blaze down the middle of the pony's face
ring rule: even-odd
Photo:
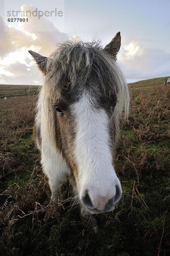
[[[109,148],[109,117],[104,109],[94,108],[88,93],[71,108],[77,123],[74,155],[79,169],[78,192],[80,198],[88,193],[93,205],[102,210],[115,196],[115,186],[121,190]]]

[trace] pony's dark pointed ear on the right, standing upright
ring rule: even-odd
[[[121,47],[121,32],[118,32],[109,44],[104,47],[104,50],[111,54],[115,59]]]

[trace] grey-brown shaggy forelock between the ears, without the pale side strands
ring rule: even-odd
[[[104,89],[115,90],[115,77],[111,70],[106,52],[102,50],[100,42],[66,42],[58,45],[48,61],[47,79],[55,81],[55,85],[64,89],[66,81],[71,82],[71,88],[83,86],[89,77],[95,76]]]

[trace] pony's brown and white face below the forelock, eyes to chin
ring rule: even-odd
[[[62,95],[53,105],[56,145],[75,177],[81,203],[92,213],[112,210],[121,197],[113,166],[116,101],[97,95],[85,89],[77,100]]]

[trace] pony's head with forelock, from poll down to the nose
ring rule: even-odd
[[[118,41],[120,34],[112,40],[114,47]],[[81,204],[91,213],[107,212],[122,194],[113,163],[118,115],[124,105],[120,96],[128,91],[125,82],[120,84],[122,74],[115,59],[106,52],[80,44],[68,47],[49,61],[49,71],[43,66],[46,59],[40,66],[46,73],[46,93],[50,91],[55,143],[74,177]],[[112,52],[113,57],[119,48],[115,55]]]

